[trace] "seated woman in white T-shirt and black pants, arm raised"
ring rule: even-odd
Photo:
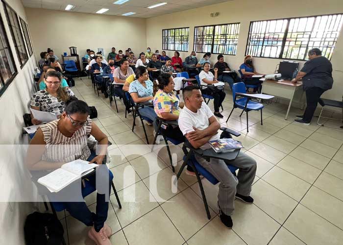
[[[207,86],[208,84],[218,83],[218,68],[214,69],[215,74],[210,72],[210,63],[204,63],[204,70],[199,73],[200,85],[202,85],[201,93],[213,96],[213,104],[215,113],[214,115],[219,118],[223,118],[223,115],[219,112],[219,108],[221,107],[222,101],[225,98],[225,92],[223,89],[211,88]]]

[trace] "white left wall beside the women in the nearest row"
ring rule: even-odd
[[[26,20],[25,9],[20,0],[7,0],[7,3]],[[15,79],[0,97],[0,237],[1,244],[24,244],[24,221],[33,211],[32,203],[13,202],[22,193],[33,194],[28,172],[23,166],[23,154],[17,148],[8,150],[5,145],[27,144],[22,136],[23,114],[28,112],[27,102],[33,93],[33,70],[36,58],[32,55],[23,69],[14,49],[11,33],[7,24],[2,2],[0,4],[1,21],[12,49],[18,70]],[[10,197],[11,202],[7,198]]]

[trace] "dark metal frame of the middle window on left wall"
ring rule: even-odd
[[[17,57],[18,57],[18,60],[19,60],[20,68],[23,69],[23,67],[25,66],[26,62],[28,61],[29,56],[28,56],[28,53],[27,53],[27,50],[26,50],[26,46],[25,46],[24,36],[23,36],[23,32],[22,32],[22,28],[21,28],[21,24],[20,24],[20,20],[19,20],[19,15],[17,14],[17,12],[5,0],[1,0],[1,1],[2,1],[2,6],[3,6],[3,9],[4,9],[5,15],[6,15],[7,25],[8,25],[8,28],[10,29],[10,32],[11,32],[14,48],[16,50]],[[18,21],[18,25],[19,25],[20,33],[18,33],[18,28],[16,26],[12,26],[11,21],[9,19],[9,13],[7,11],[7,7],[9,9],[11,9],[11,11],[13,11],[13,13],[16,15],[17,21]],[[23,47],[24,47],[23,51],[25,51],[26,56],[27,56],[27,59],[25,59],[25,57],[24,57],[24,62],[22,62],[22,59],[20,57],[19,47],[21,47],[21,45],[17,44],[17,40],[15,38],[13,27],[16,29],[16,32],[18,34],[18,38],[19,39],[22,38],[22,40],[23,40]],[[19,36],[19,34],[21,36]]]

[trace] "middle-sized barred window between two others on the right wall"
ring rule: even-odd
[[[240,23],[194,27],[194,50],[199,53],[235,55]]]

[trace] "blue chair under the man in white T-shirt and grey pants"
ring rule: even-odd
[[[237,132],[235,130],[232,130],[232,129],[229,129],[229,128],[222,127],[221,130],[227,131],[227,132],[229,132],[230,134],[233,134],[236,137],[241,135],[239,132]],[[194,170],[194,172],[196,173],[197,182],[199,184],[202,200],[203,200],[204,205],[205,205],[205,210],[206,210],[207,218],[210,220],[211,219],[211,214],[210,214],[210,211],[209,211],[209,208],[208,208],[208,204],[207,204],[204,188],[202,186],[202,182],[201,182],[201,179],[200,179],[200,174],[204,178],[206,178],[208,181],[210,181],[213,185],[216,185],[217,183],[219,183],[219,180],[216,179],[216,177],[213,176],[212,173],[208,172],[204,167],[202,167],[198,163],[198,161],[196,161],[195,154],[197,154],[200,157],[201,157],[201,155],[199,155],[196,152],[196,149],[194,149],[192,147],[192,145],[188,141],[186,141],[184,143],[183,147],[182,147],[184,152],[185,151],[187,152],[186,148],[189,148],[190,151],[187,154],[185,154],[185,156],[183,157],[183,164],[182,164],[179,172],[176,174],[176,178],[178,179],[180,177],[180,175],[181,175],[183,169],[186,167],[186,165],[189,165]],[[232,172],[233,175],[236,176],[236,171],[238,170],[237,167],[232,166],[232,165],[227,165],[227,168],[230,170],[230,172]]]

